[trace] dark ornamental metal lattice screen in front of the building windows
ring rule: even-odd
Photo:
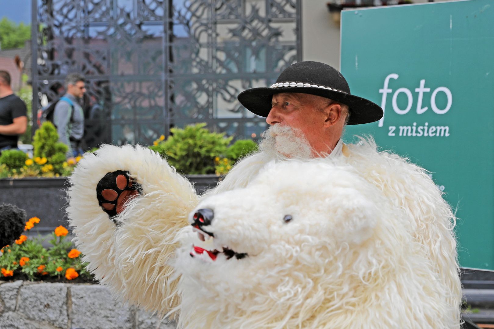
[[[33,109],[83,73],[88,146],[149,144],[206,122],[259,137],[237,101],[300,60],[296,0],[33,0]],[[36,124],[36,123],[35,123]]]

